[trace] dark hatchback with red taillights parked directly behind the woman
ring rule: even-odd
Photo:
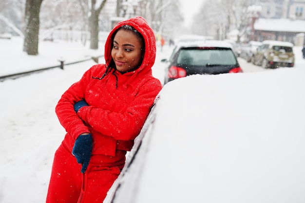
[[[191,41],[179,43],[173,49],[169,60],[163,59],[165,69],[164,84],[177,78],[194,74],[242,73],[242,69],[225,41]]]

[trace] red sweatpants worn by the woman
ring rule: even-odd
[[[46,203],[102,203],[120,173],[119,167],[90,164],[85,173],[80,169],[76,158],[60,145],[54,156]]]

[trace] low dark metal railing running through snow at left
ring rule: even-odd
[[[104,55],[100,55],[100,56],[97,56],[97,57],[91,57],[89,59],[84,59],[84,60],[81,60],[81,61],[74,61],[74,62],[69,62],[69,63],[65,63],[64,61],[58,60],[60,62],[60,65],[55,65],[55,66],[50,66],[50,67],[45,67],[45,68],[39,68],[39,69],[36,69],[36,70],[30,70],[30,71],[25,71],[25,72],[0,76],[0,81],[5,81],[5,80],[8,80],[8,79],[13,79],[14,80],[14,79],[17,79],[17,78],[20,78],[20,77],[23,77],[23,76],[27,76],[27,75],[30,75],[30,74],[33,74],[33,73],[38,73],[38,72],[45,71],[45,70],[50,70],[50,69],[53,69],[53,68],[60,68],[60,69],[63,70],[64,65],[71,65],[71,64],[75,64],[75,63],[79,63],[79,62],[83,62],[83,61],[93,60],[96,63],[98,63],[98,58],[103,57],[103,56]]]

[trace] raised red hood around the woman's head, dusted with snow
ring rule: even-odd
[[[109,63],[112,60],[111,56],[111,47],[113,43],[114,38],[114,32],[119,29],[122,25],[130,25],[134,29],[136,29],[144,38],[145,41],[145,54],[142,61],[142,64],[138,69],[136,69],[134,72],[139,72],[144,68],[152,68],[152,65],[154,63],[155,57],[156,57],[156,40],[153,33],[152,28],[148,25],[147,21],[142,17],[135,17],[128,20],[123,20],[119,23],[117,23],[114,26],[114,29],[110,31],[110,34],[106,40],[105,43],[105,61],[106,65],[108,66]]]

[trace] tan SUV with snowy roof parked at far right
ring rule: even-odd
[[[293,67],[293,44],[285,41],[263,41],[253,57],[253,64],[264,68]]]

